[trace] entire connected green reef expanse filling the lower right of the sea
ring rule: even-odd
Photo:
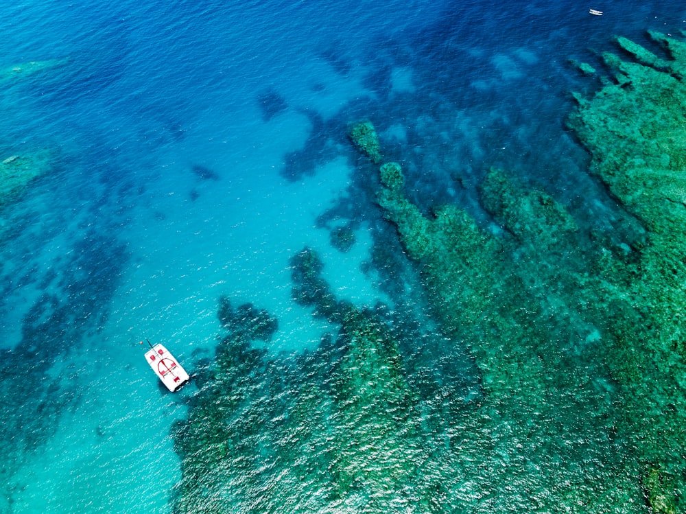
[[[338,299],[305,248],[294,299],[340,331],[270,355],[252,342],[272,316],[222,299],[225,334],[175,432],[176,512],[684,511],[686,45],[650,36],[665,56],[617,38],[632,58],[605,54],[613,80],[567,119],[622,233],[495,168],[480,185],[489,226],[424,209],[403,165],[377,167],[373,126],[353,125],[441,350],[469,349],[479,382],[447,386],[456,375],[413,353],[383,307]]]

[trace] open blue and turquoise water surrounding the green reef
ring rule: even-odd
[[[600,82],[570,60],[680,34],[686,7],[29,0],[0,22],[0,161],[50,155],[0,211],[0,513],[152,514],[173,511],[171,432],[200,381],[168,394],[145,338],[197,374],[226,297],[278,320],[256,343],[269,354],[311,351],[337,327],[293,299],[306,247],[338,298],[409,312],[430,337],[412,264],[372,258],[400,246],[351,123],[373,121],[427,212],[488,226],[477,189],[497,166],[603,229],[613,202],[565,129],[570,93]]]

